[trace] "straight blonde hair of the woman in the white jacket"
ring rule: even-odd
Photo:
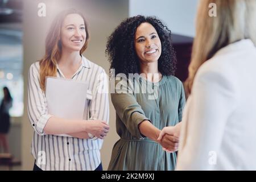
[[[209,16],[209,4],[215,3],[217,16]],[[256,44],[255,0],[201,0],[196,18],[196,36],[185,86],[191,92],[199,67],[219,49],[241,39]]]

